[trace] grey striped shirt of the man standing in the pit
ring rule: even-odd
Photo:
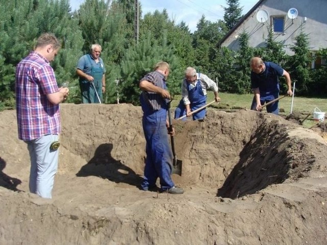
[[[144,80],[153,83],[155,86],[162,89],[167,89],[166,78],[158,71],[152,71],[148,73],[139,82]],[[147,102],[153,111],[160,110],[161,108],[167,109],[167,102],[162,98],[160,94],[155,92],[142,91],[141,96],[143,96],[143,100]]]

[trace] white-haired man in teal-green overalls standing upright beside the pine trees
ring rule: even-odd
[[[102,102],[102,93],[106,91],[106,69],[100,54],[101,46],[92,44],[90,54],[82,56],[77,63],[82,103]]]

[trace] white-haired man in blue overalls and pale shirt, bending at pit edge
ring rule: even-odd
[[[219,102],[218,87],[216,83],[206,75],[197,73],[193,67],[185,70],[185,78],[182,81],[182,99],[175,110],[175,119],[190,116],[191,112],[206,104],[206,90],[213,90],[215,101]],[[193,114],[193,120],[201,120],[205,117],[206,110],[200,110]],[[184,118],[186,120],[186,118]]]

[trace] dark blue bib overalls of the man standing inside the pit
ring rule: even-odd
[[[166,127],[168,105],[163,102],[160,103],[161,109],[152,110],[144,92],[140,96],[140,101],[144,113],[142,125],[147,154],[141,187],[144,190],[153,188],[159,178],[161,189],[167,190],[174,186],[171,179],[173,153]]]

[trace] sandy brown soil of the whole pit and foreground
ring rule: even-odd
[[[16,112],[0,112],[0,244],[327,244],[324,126],[210,109],[177,121],[182,195],[138,188],[140,107],[61,105],[53,199],[28,191]]]

